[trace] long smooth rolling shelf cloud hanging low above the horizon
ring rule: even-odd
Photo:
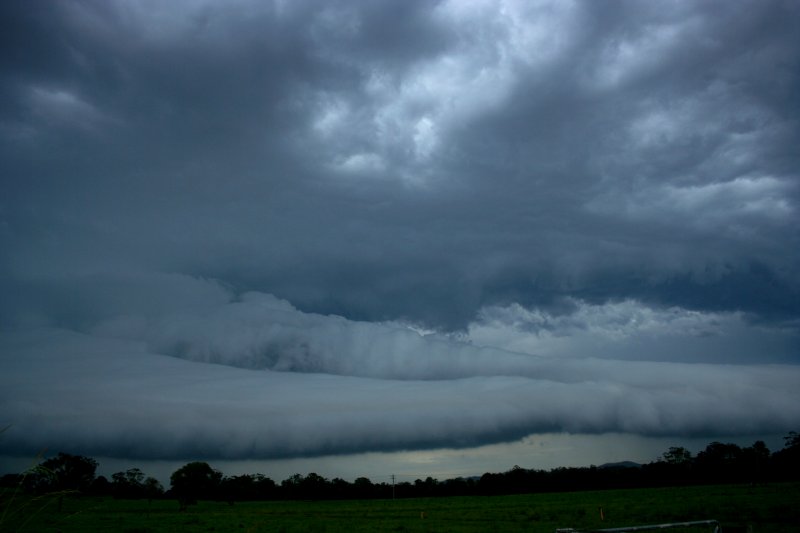
[[[91,333],[9,333],[2,353],[13,453],[57,438],[103,456],[252,459],[800,422],[796,366],[513,353],[302,313],[265,294]]]

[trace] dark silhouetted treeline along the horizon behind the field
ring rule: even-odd
[[[197,500],[230,503],[257,500],[327,500],[417,498],[436,496],[499,495],[535,492],[599,490],[671,485],[766,483],[800,480],[800,435],[785,437],[785,447],[770,452],[762,441],[742,448],[712,442],[693,456],[672,447],[646,465],[623,463],[603,467],[525,469],[515,466],[502,473],[439,481],[432,477],[413,483],[373,483],[366,477],[354,482],[326,479],[318,474],[295,474],[280,483],[263,474],[224,476],[205,462],[188,463],[170,476],[170,488],[138,468],[96,476],[97,461],[59,453],[21,474],[0,479],[6,488],[33,494],[76,492],[120,499],[174,498],[181,507]]]

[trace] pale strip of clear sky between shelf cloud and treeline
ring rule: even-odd
[[[741,447],[752,446],[763,439],[775,452],[783,448],[784,435],[740,436],[725,439]],[[704,450],[711,442],[702,438],[642,437],[631,434],[572,435],[545,433],[531,435],[515,442],[486,444],[466,449],[432,449],[407,452],[365,452],[348,455],[297,457],[271,460],[219,460],[207,462],[226,476],[263,474],[276,483],[294,474],[318,474],[328,480],[341,478],[348,482],[367,477],[375,484],[414,483],[417,479],[433,477],[439,481],[457,477],[479,477],[499,473],[515,466],[537,470],[560,467],[600,466],[605,463],[633,461],[647,464],[657,461],[672,446],[682,446],[692,455]],[[45,454],[51,457],[54,454]],[[188,460],[126,459],[95,457],[97,475],[111,479],[115,472],[139,468],[146,476],[158,479],[169,488],[170,475]],[[204,460],[202,457],[192,460]],[[36,456],[0,456],[0,473],[24,472],[41,459]]]

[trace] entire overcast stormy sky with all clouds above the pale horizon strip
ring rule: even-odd
[[[0,3],[0,454],[456,472],[800,430],[799,23]]]

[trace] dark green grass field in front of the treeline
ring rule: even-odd
[[[4,499],[4,503],[8,503]],[[604,519],[601,520],[600,509]],[[19,498],[0,531],[149,533],[241,532],[549,532],[716,519],[755,533],[800,532],[800,483],[321,502],[120,501],[66,495]],[[679,530],[669,530],[677,532]],[[710,528],[686,531],[705,532]]]

